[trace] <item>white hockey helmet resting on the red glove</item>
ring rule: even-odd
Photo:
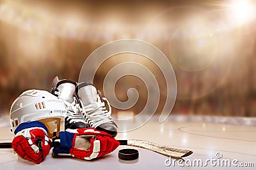
[[[67,109],[63,101],[44,90],[27,90],[20,94],[10,109],[11,127],[14,132],[22,122],[38,120],[44,123],[49,131],[49,138],[54,132],[63,130]]]

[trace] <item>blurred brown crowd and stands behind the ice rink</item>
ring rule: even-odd
[[[246,8],[248,15],[239,16],[239,9],[232,13],[232,3],[1,0],[0,113],[7,115],[24,90],[50,91],[56,75],[78,81],[84,60],[99,46],[134,38],[152,43],[172,64],[178,90],[173,114],[255,117],[256,22],[251,8]],[[141,63],[154,73],[161,113],[166,82],[161,69],[140,55],[116,55],[104,62],[93,80],[97,88],[102,91],[111,67],[126,61]],[[131,108],[139,113],[147,102],[147,89],[139,78],[118,80],[116,96],[127,100],[131,87],[140,93]]]

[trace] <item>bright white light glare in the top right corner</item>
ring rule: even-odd
[[[234,17],[239,24],[245,24],[246,22],[250,22],[250,20],[255,17],[255,12],[253,9],[253,4],[248,1],[234,1],[234,3],[230,6],[232,10],[232,17]]]

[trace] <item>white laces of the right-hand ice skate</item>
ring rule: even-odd
[[[97,99],[97,102],[88,104],[88,106],[83,106],[83,103],[81,102],[84,118],[90,118],[95,127],[99,124],[113,121],[111,118],[111,106],[108,99],[105,97],[100,98],[99,95],[97,96]],[[105,103],[101,101],[101,99],[106,101],[109,106],[109,111],[106,110]]]

